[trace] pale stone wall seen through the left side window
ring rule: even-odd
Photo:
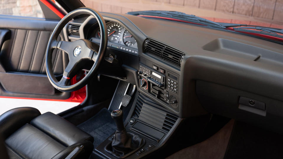
[[[37,0],[0,0],[0,14],[43,17]]]

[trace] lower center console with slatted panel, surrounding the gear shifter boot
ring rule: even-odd
[[[94,155],[96,158],[143,158],[161,148],[180,122],[181,118],[137,92],[129,115],[124,120],[125,127],[116,122],[117,131],[95,149]],[[141,138],[143,142],[119,157],[113,151],[113,143],[115,145],[117,142],[117,133],[123,129],[121,127],[125,128],[127,133],[133,134],[132,136],[138,136],[134,138]]]

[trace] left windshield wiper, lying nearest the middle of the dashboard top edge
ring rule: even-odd
[[[226,26],[222,26],[221,24],[217,22],[210,21],[208,19],[201,18],[195,15],[185,14],[179,11],[131,11],[131,12],[128,12],[127,14],[131,14],[135,16],[138,16],[138,15],[160,16],[160,17],[174,18],[178,20],[193,22],[197,24],[203,24],[209,27],[215,27],[215,28],[220,28],[220,29],[226,28]]]

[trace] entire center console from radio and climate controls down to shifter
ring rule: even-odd
[[[182,119],[176,115],[180,111],[180,75],[168,68],[139,57],[135,72],[139,89],[125,127],[121,118],[115,120],[117,131],[95,149],[97,158],[149,157],[169,140]],[[140,142],[134,140],[137,138]],[[130,139],[136,144],[129,144]]]

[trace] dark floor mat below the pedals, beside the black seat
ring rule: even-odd
[[[94,148],[116,131],[116,124],[111,118],[111,112],[106,108],[101,109],[95,116],[81,123],[78,127],[93,136]]]

